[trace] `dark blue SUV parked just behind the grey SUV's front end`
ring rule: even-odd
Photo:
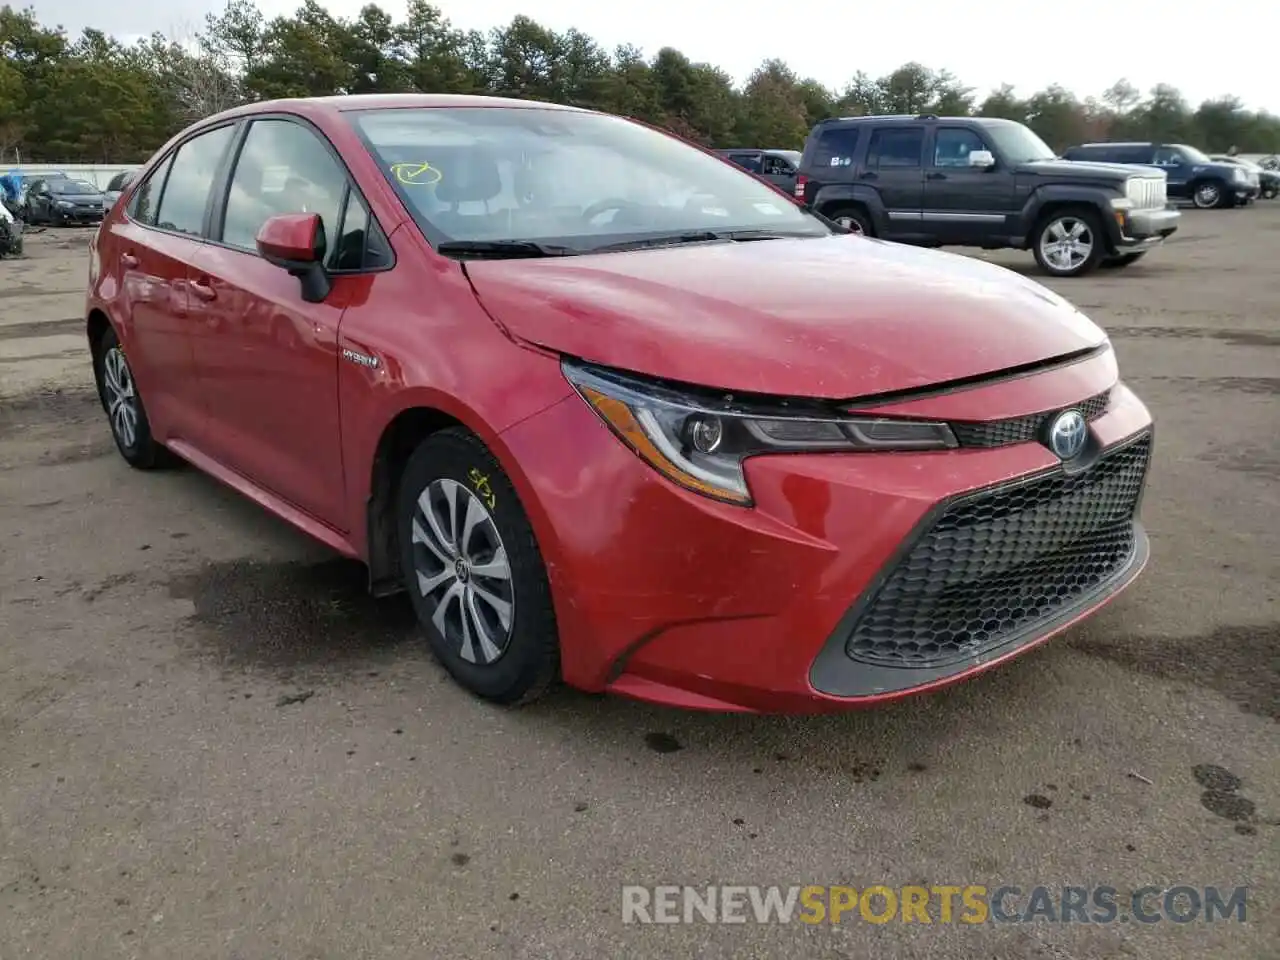
[[[1169,177],[1169,196],[1188,200],[1202,210],[1243,206],[1260,193],[1248,170],[1215,163],[1185,143],[1082,143],[1062,156],[1089,163],[1158,166]]]

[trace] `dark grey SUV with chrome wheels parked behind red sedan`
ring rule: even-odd
[[[870,237],[1030,248],[1052,276],[1128,266],[1178,229],[1161,170],[1068,163],[993,118],[854,116],[805,141],[795,195]]]

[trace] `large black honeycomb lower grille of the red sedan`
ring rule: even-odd
[[[1043,623],[1124,571],[1151,435],[946,507],[872,594],[845,652],[891,667],[974,657]]]

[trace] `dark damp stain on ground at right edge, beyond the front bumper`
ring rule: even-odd
[[[1280,721],[1280,623],[1201,636],[1076,635],[1069,644],[1140,673],[1216,690],[1248,713]]]

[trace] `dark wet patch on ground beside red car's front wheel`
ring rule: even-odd
[[[210,563],[172,580],[169,593],[195,604],[200,652],[224,668],[349,676],[430,657],[408,598],[370,596],[356,561]]]

